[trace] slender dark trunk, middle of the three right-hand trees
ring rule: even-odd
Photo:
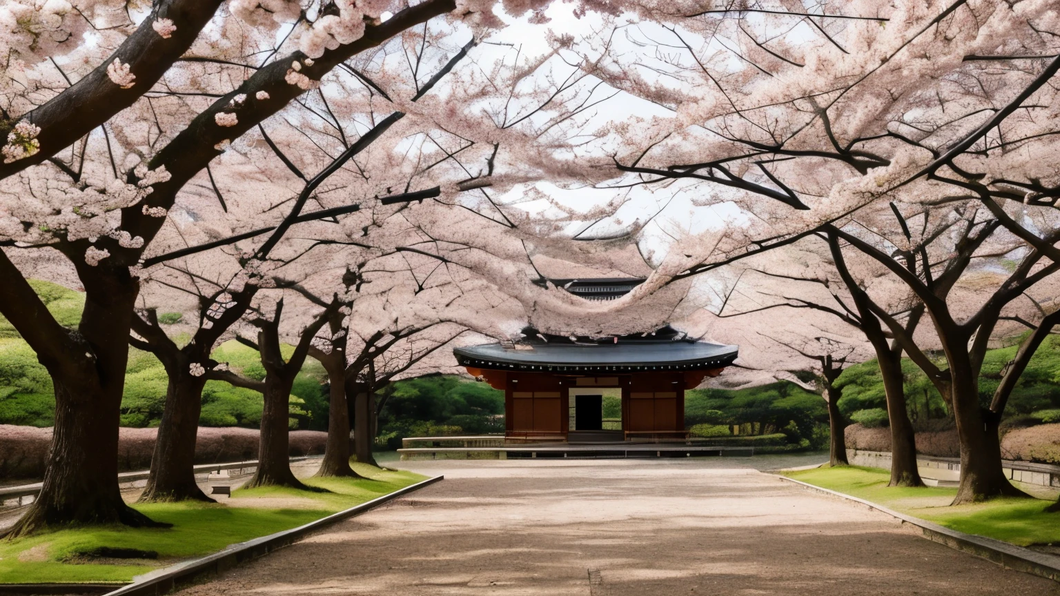
[[[902,378],[901,352],[877,349],[880,375],[887,399],[887,419],[890,424],[890,487],[922,487],[917,469],[917,441],[913,423],[905,406],[905,387]]]

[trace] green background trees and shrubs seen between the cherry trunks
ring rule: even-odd
[[[83,294],[43,281],[34,281],[33,286],[63,325],[76,325]],[[159,318],[163,325],[177,322],[165,314]],[[979,382],[984,404],[1014,351],[1013,346],[988,352]],[[245,376],[261,380],[265,375],[259,355],[251,348],[227,341],[214,354]],[[923,372],[908,360],[903,361],[902,368],[909,418],[917,431],[952,427],[950,409]],[[158,358],[129,348],[122,426],[157,426],[165,402],[165,370]],[[876,361],[847,368],[836,386],[843,391],[840,410],[849,422],[869,428],[887,424]],[[504,393],[488,384],[454,375],[394,382],[379,391],[378,403],[376,442],[383,449],[398,449],[404,437],[502,433],[505,427]],[[299,373],[289,404],[292,430],[328,428],[326,374],[316,361],[310,358]],[[54,409],[55,398],[47,371],[11,323],[0,317],[0,424],[51,426]],[[200,425],[257,428],[261,414],[261,393],[223,381],[207,383]],[[1048,338],[1031,360],[1012,393],[1005,426],[1053,422],[1060,422],[1060,338],[1057,337]],[[686,395],[685,423],[695,437],[723,439],[736,433],[740,437],[756,437],[740,440],[752,440],[763,448],[819,450],[828,442],[824,400],[787,381],[736,390],[690,390]]]

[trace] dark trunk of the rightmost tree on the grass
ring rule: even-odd
[[[976,380],[970,374],[971,366],[962,366],[966,363],[961,360],[950,358],[950,399],[960,440],[960,486],[953,505],[995,496],[1028,496],[1005,477],[997,423],[984,419]]]

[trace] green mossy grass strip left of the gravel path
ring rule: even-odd
[[[411,472],[389,472],[363,463],[354,469],[371,479],[304,478],[331,492],[281,488],[235,490],[218,504],[160,503],[136,508],[172,528],[104,526],[50,531],[0,541],[0,583],[116,582],[215,553],[229,544],[298,527],[423,480]],[[100,547],[158,553],[157,560],[86,558]]]

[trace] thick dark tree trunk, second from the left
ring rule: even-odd
[[[151,475],[140,495],[141,503],[214,502],[195,481],[195,441],[206,376],[192,376],[190,364],[191,361],[181,353],[173,369],[167,371],[170,384],[165,391],[165,409],[162,410],[162,422],[151,459]]]

